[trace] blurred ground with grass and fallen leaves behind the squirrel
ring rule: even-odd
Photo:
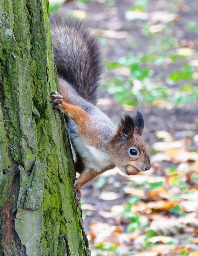
[[[85,19],[104,74],[98,107],[116,123],[140,109],[152,168],[83,186],[95,255],[198,255],[198,4],[193,0],[50,1]]]

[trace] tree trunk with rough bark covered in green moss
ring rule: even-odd
[[[47,0],[0,0],[0,255],[90,255],[58,90]]]

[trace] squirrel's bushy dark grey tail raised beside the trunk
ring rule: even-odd
[[[102,70],[97,41],[83,22],[70,16],[52,16],[50,29],[58,75],[96,104]]]

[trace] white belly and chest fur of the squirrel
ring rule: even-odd
[[[108,154],[98,150],[95,147],[86,145],[82,137],[78,136],[73,139],[73,141],[87,171],[94,169],[99,172],[107,166],[113,164]]]

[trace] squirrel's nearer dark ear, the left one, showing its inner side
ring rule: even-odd
[[[129,115],[125,115],[124,118],[121,118],[119,128],[118,128],[118,135],[119,135],[119,142],[124,142],[126,138],[132,138],[134,132],[134,123],[133,118]]]

